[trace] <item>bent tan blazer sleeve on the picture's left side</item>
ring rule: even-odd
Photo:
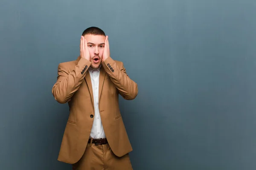
[[[67,63],[58,65],[58,77],[52,87],[52,94],[59,103],[69,102],[73,94],[79,89],[91,62],[81,58],[72,71],[65,67]]]

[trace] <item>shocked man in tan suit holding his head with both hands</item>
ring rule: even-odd
[[[58,160],[73,170],[132,170],[132,151],[119,110],[119,94],[138,94],[123,63],[110,57],[108,36],[97,27],[84,30],[80,56],[58,65],[52,94],[70,107]]]

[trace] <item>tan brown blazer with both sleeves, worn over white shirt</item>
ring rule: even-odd
[[[74,164],[83,155],[94,119],[93,88],[87,72],[91,62],[78,57],[58,65],[58,77],[52,94],[70,107],[58,160]],[[99,112],[111,150],[116,156],[132,151],[119,110],[119,94],[127,100],[138,94],[137,84],[126,74],[123,63],[108,57],[99,75]]]

